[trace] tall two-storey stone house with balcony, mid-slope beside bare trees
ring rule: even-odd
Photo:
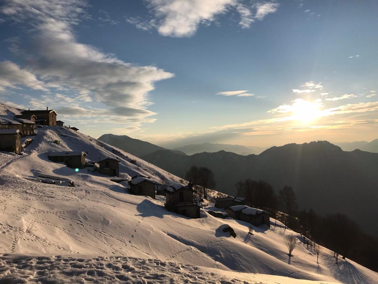
[[[167,187],[166,203],[164,207],[171,212],[184,215],[189,218],[200,217],[200,207],[194,203],[194,189],[191,183],[188,186],[183,184],[172,184]]]

